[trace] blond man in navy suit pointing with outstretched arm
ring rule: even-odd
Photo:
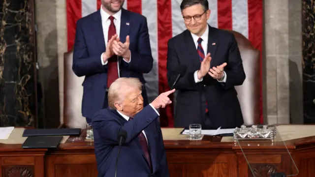
[[[109,88],[109,108],[93,117],[98,177],[114,177],[119,148],[117,135],[127,133],[118,160],[117,177],[169,177],[158,108],[172,101],[161,93],[143,106],[142,83],[137,78],[119,78]]]

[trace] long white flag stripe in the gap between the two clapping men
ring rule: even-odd
[[[153,57],[153,68],[150,73],[144,74],[147,81],[146,89],[149,102],[152,102],[158,96],[158,19],[157,19],[157,1],[142,0],[142,15],[147,17],[147,23],[150,35],[150,46]]]

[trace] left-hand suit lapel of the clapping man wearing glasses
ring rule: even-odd
[[[186,30],[184,35],[185,35],[184,41],[186,43],[185,45],[186,51],[189,54],[188,59],[191,62],[193,68],[200,68],[199,55],[197,53],[196,45],[193,42],[193,39],[189,30]]]

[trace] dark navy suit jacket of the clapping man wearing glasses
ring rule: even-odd
[[[192,123],[204,124],[206,101],[210,126],[208,128],[235,128],[243,124],[241,107],[234,86],[242,85],[245,72],[240,51],[234,34],[209,26],[208,49],[211,54],[210,67],[224,67],[226,82],[220,83],[207,74],[202,82],[195,83],[194,72],[200,69],[200,60],[189,30],[171,38],[167,50],[167,79],[171,86],[179,65],[187,66],[187,73],[178,80],[175,89],[176,112],[175,127],[187,127]],[[206,55],[206,54],[205,54]]]

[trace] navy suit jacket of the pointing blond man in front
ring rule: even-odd
[[[120,150],[117,177],[169,177],[158,114],[150,105],[129,121],[116,110],[102,109],[93,117],[92,126],[98,177],[114,177],[121,129],[126,130],[127,137]],[[142,130],[149,144],[152,172],[138,140]]]

